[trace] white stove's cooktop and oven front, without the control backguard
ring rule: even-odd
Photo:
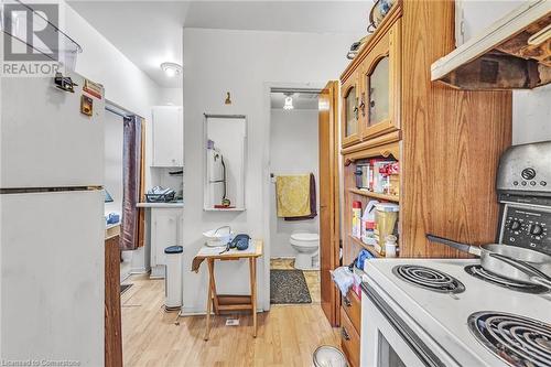
[[[460,259],[366,261],[361,366],[530,366],[515,364],[512,359],[512,364],[508,364],[497,356],[477,338],[469,321],[473,323],[477,313],[488,312],[529,317],[551,325],[551,293],[538,287],[520,291],[515,285],[508,288],[511,285],[478,279],[467,272],[477,265],[477,260]],[[434,291],[414,284],[397,273],[400,267],[412,273],[413,279],[424,274],[444,287]],[[434,270],[451,280],[440,278]],[[458,281],[458,287],[445,285],[453,284],[453,280]],[[484,322],[486,315],[478,315],[482,317],[478,322]],[[541,343],[541,350],[548,353],[542,358],[551,358],[551,335],[547,336],[547,341],[534,342]],[[551,366],[551,359],[541,360],[540,366]]]

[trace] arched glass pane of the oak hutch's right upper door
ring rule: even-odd
[[[366,75],[367,126],[374,126],[390,118],[390,73],[389,56],[380,58],[371,73]]]

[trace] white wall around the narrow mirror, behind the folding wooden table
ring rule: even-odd
[[[184,312],[204,312],[205,266],[190,272],[191,261],[203,244],[202,231],[229,224],[237,233],[267,239],[264,194],[268,172],[267,83],[307,83],[338,78],[347,65],[346,50],[354,35],[282,32],[184,30]],[[231,91],[233,105],[224,104]],[[248,158],[244,213],[203,212],[203,114],[246,115]],[[259,305],[268,307],[263,287],[269,271],[269,248],[259,260]],[[263,270],[263,271],[262,271]],[[228,261],[216,266],[219,292],[248,292],[248,266]],[[263,302],[262,302],[263,301]]]

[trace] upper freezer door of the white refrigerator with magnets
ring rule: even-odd
[[[105,99],[80,114],[84,79],[75,93],[53,78],[2,78],[0,187],[100,186],[104,183]]]

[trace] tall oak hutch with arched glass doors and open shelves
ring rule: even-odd
[[[453,47],[453,1],[402,0],[343,72],[342,110],[359,79],[357,134],[344,133],[342,122],[343,263],[363,248],[374,252],[350,236],[353,202],[363,208],[374,198],[399,204],[400,257],[465,257],[428,242],[429,233],[471,244],[495,239],[496,172],[511,143],[511,94],[431,82],[431,64]],[[398,190],[389,194],[356,185],[358,164],[372,159],[398,161]]]

